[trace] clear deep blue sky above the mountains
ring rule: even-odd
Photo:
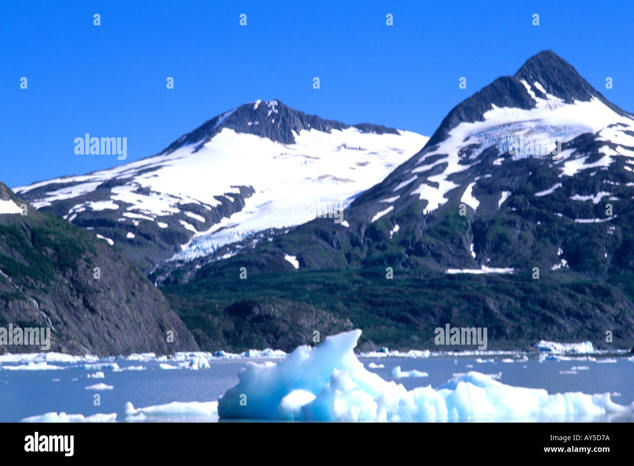
[[[84,133],[126,137],[129,162],[257,99],[430,136],[453,106],[544,49],[634,112],[631,0],[82,0],[1,8],[0,181],[9,186],[125,163],[75,155],[74,139]],[[321,89],[313,89],[314,76]],[[458,89],[461,76],[466,90]],[[614,89],[605,89],[607,76]]]

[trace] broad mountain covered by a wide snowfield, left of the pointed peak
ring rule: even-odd
[[[15,192],[116,245],[147,273],[166,259],[189,261],[268,232],[253,244],[344,209],[427,139],[255,101],[153,157]]]

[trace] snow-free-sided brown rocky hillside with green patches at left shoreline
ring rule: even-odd
[[[0,327],[10,324],[51,328],[50,350],[64,353],[198,349],[164,296],[126,257],[0,183]],[[6,351],[41,349],[0,344]]]

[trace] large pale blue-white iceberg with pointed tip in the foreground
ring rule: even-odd
[[[247,363],[218,401],[220,418],[328,421],[452,421],[634,412],[608,393],[548,394],[512,387],[479,372],[432,388],[406,390],[369,372],[354,355],[361,330],[300,346],[273,365]]]

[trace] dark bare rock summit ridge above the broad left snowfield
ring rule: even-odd
[[[396,129],[381,125],[363,123],[353,126],[362,133],[398,134]],[[307,115],[284,105],[278,99],[256,100],[207,120],[191,133],[183,134],[176,139],[161,154],[174,152],[186,145],[195,145],[193,152],[197,152],[224,128],[232,129],[236,133],[269,138],[271,141],[282,144],[294,144],[294,134],[299,134],[302,129],[330,133],[333,129],[342,130],[349,127],[351,125],[336,120]]]

